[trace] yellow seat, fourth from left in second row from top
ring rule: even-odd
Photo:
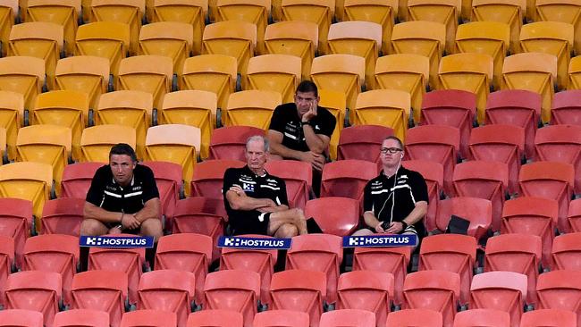
[[[231,55],[236,58],[238,72],[244,75],[256,46],[256,25],[246,21],[220,21],[204,29],[202,55]]]

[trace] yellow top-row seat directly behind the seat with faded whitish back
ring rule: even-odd
[[[345,0],[343,21],[371,21],[382,26],[382,52],[387,55],[392,47],[392,30],[398,16],[397,0]],[[405,12],[405,11],[404,11]]]

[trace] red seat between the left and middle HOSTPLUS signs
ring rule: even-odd
[[[196,282],[192,299],[201,304],[204,300],[204,281],[212,263],[212,249],[212,239],[206,235],[193,233],[165,235],[157,242],[154,267],[156,271],[171,269],[192,272]]]

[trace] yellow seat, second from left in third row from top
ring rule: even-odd
[[[107,91],[109,61],[103,57],[77,55],[56,63],[55,89],[83,92],[89,107],[96,108],[99,96]]]

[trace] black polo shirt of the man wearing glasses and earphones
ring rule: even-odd
[[[401,222],[414,210],[417,202],[428,202],[427,185],[419,172],[400,167],[396,175],[387,178],[382,171],[375,179],[369,180],[364,189],[364,211],[372,211],[381,222]],[[423,221],[409,227],[410,231],[417,231],[418,236],[425,235]]]

